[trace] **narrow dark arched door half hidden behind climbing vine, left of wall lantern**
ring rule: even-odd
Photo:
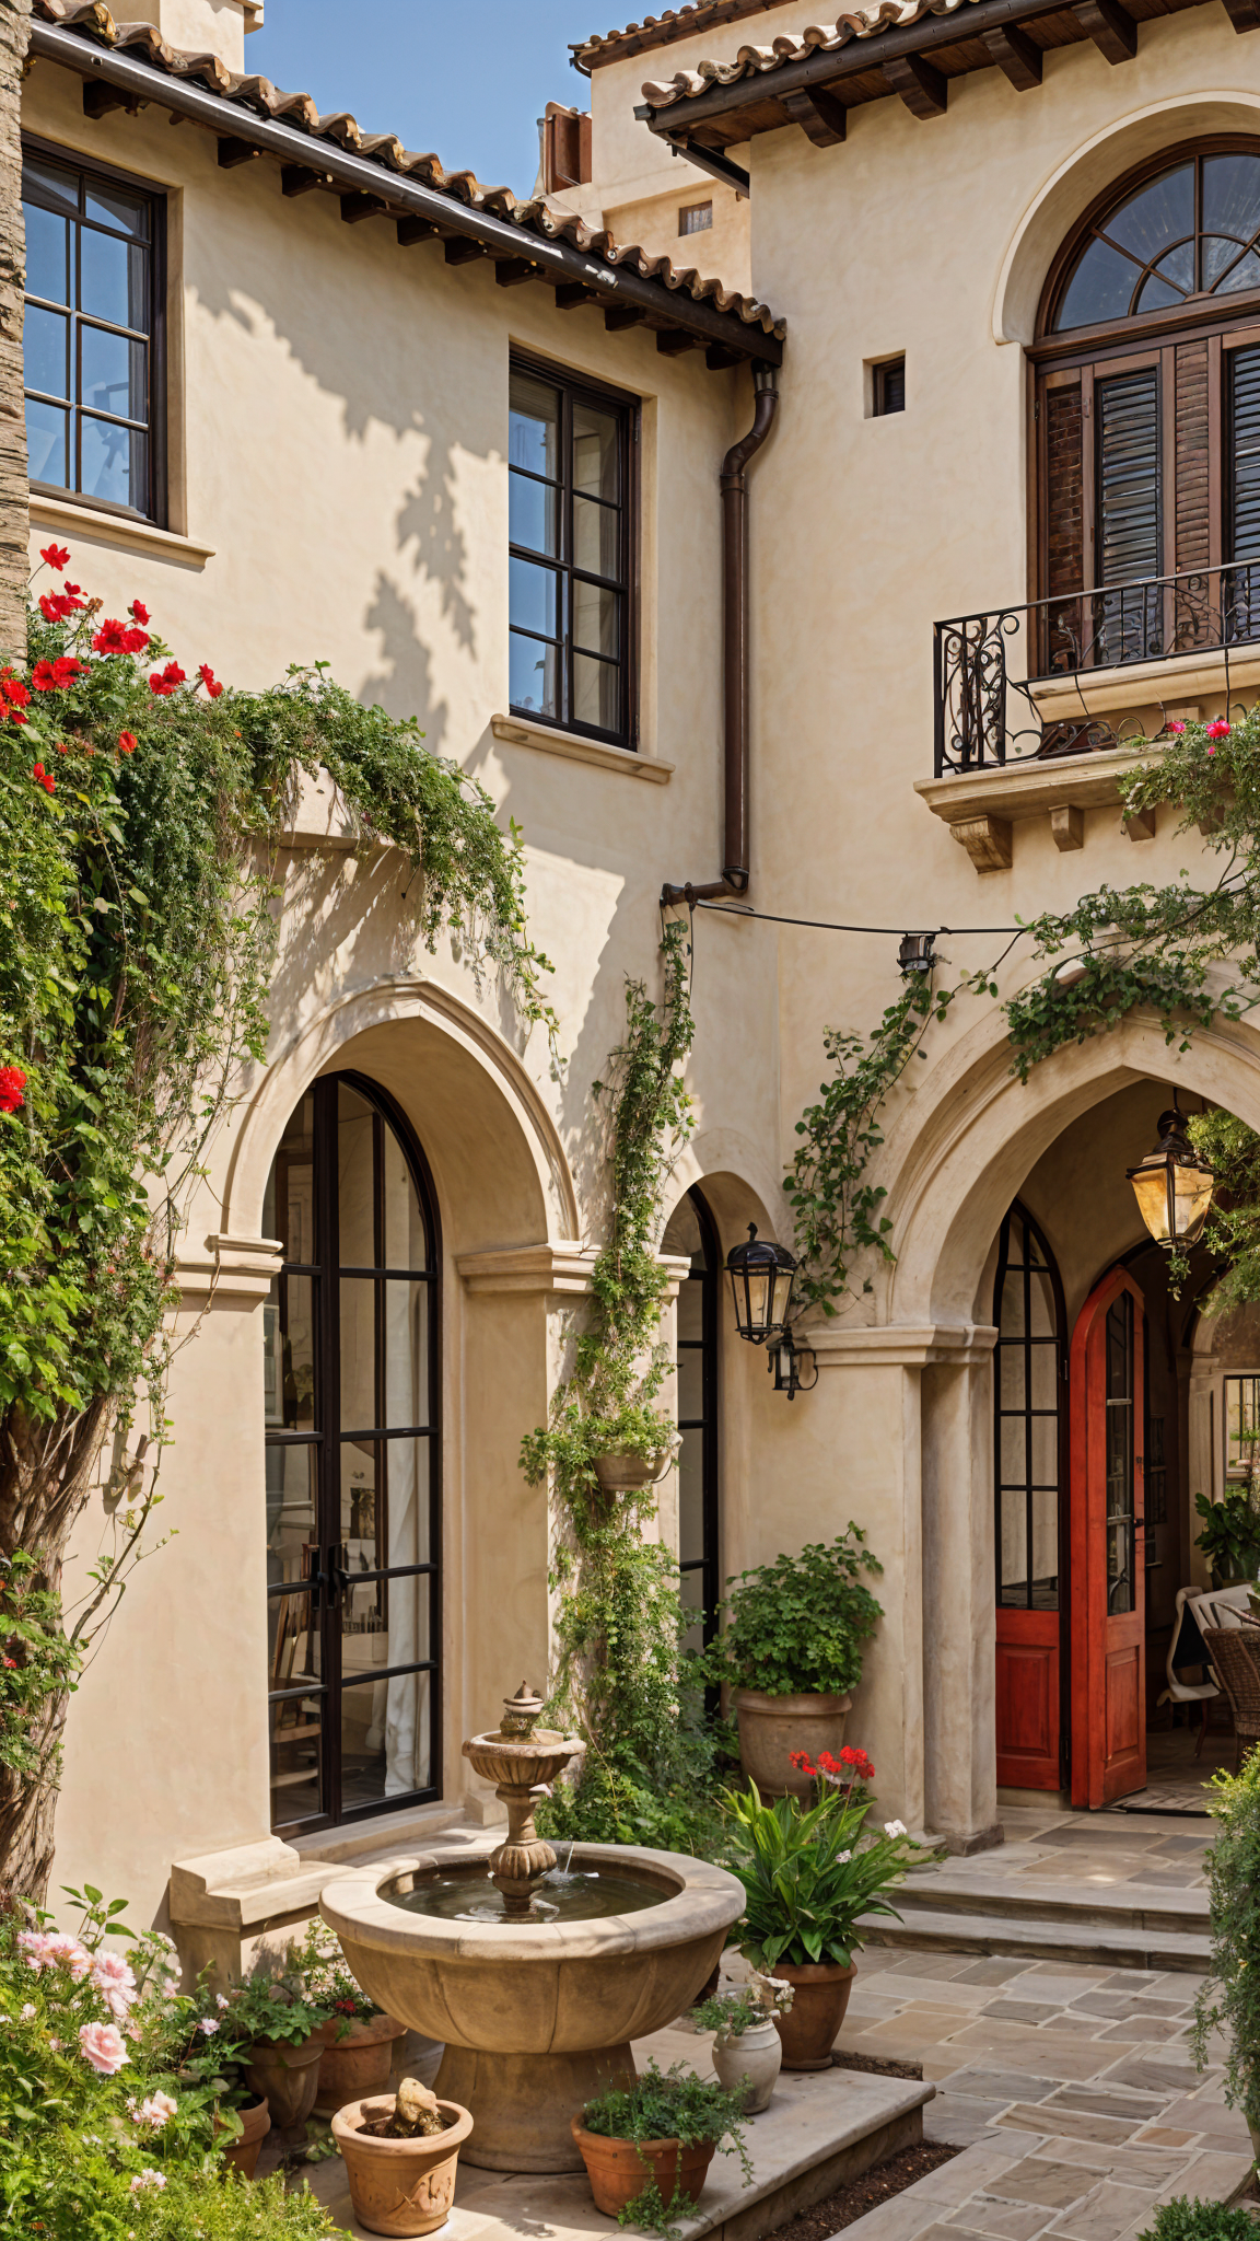
[[[717,1224],[700,1190],[679,1201],[661,1253],[686,1255],[691,1271],[677,1293],[677,1535],[682,1600],[695,1611],[688,1649],[700,1649],[717,1631],[722,1593],[717,1515],[717,1286],[722,1246]]]

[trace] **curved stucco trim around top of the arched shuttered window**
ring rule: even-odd
[[[1260,94],[1170,94],[1119,117],[1049,175],[1016,224],[993,294],[993,341],[1031,343],[1049,262],[1065,233],[1134,164],[1204,132],[1258,132]]]

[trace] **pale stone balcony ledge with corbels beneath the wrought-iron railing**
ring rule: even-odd
[[[948,825],[978,872],[1009,872],[1013,827],[1045,818],[1058,849],[1085,847],[1085,809],[1119,809],[1117,780],[1159,753],[1112,748],[1108,755],[1063,755],[1054,762],[1009,762],[951,778],[917,778],[915,793]],[[1125,818],[1130,840],[1155,838],[1155,811]]]

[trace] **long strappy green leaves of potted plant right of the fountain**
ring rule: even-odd
[[[780,1961],[847,1968],[863,1947],[859,1914],[897,1916],[883,1891],[935,1858],[901,1822],[863,1835],[870,1800],[852,1782],[827,1784],[812,1806],[798,1797],[762,1804],[756,1784],[731,1791],[726,1804],[738,1838],[731,1869],[744,1885],[738,1938],[758,1970],[769,1972]]]

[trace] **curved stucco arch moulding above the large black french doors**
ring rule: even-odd
[[[285,1120],[318,1073],[345,1064],[352,1042],[372,1029],[419,1022],[473,1060],[487,1094],[507,1107],[538,1199],[538,1244],[572,1244],[578,1201],[552,1114],[516,1051],[469,1004],[430,979],[397,977],[339,995],[276,1053],[233,1112],[235,1143],[222,1199],[222,1235],[258,1237],[262,1194]]]

